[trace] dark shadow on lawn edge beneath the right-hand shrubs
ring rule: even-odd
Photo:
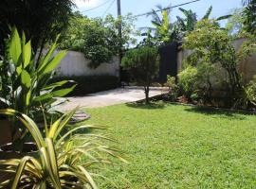
[[[252,115],[249,112],[236,112],[236,111],[229,111],[229,110],[222,110],[222,109],[214,109],[210,107],[190,107],[185,109],[187,112],[196,112],[205,115],[219,115],[229,119],[238,119],[244,120],[246,119],[246,115]]]

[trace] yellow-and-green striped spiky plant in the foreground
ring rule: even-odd
[[[105,140],[111,139],[92,133],[76,134],[79,129],[102,129],[100,127],[81,126],[61,135],[75,112],[66,113],[50,126],[46,125],[43,136],[27,115],[13,110],[0,110],[0,114],[15,116],[21,121],[38,147],[35,156],[0,161],[6,167],[4,171],[13,174],[9,180],[0,183],[0,187],[94,189],[97,184],[93,178],[97,174],[91,171],[97,168],[95,164],[112,163],[108,155],[126,162],[119,156],[117,149],[104,145]],[[75,144],[77,137],[82,138],[82,144]]]

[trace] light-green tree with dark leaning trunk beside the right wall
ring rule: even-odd
[[[198,62],[219,64],[229,76],[230,98],[235,97],[241,89],[241,76],[237,70],[238,54],[232,44],[232,37],[227,30],[222,29],[214,20],[199,22],[196,29],[186,38],[184,48],[192,49],[192,55],[187,59],[190,65]],[[221,77],[221,76],[219,76]]]

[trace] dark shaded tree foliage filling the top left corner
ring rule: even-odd
[[[4,0],[0,1],[0,54],[4,40],[10,34],[9,26],[16,26],[31,39],[35,52],[54,41],[68,24],[74,8],[73,0]]]

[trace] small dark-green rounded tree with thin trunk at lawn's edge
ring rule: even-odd
[[[150,85],[157,76],[159,69],[158,52],[155,47],[142,46],[128,51],[121,65],[128,70],[137,83],[144,86],[145,101],[148,104]]]

